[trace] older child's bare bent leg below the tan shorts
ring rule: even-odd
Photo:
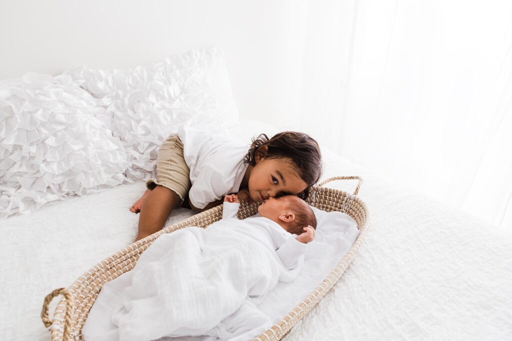
[[[173,190],[156,186],[144,200],[139,216],[139,233],[135,241],[159,231],[167,221],[170,212],[181,203]]]

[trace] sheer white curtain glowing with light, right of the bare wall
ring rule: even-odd
[[[288,5],[275,123],[512,231],[512,2]]]

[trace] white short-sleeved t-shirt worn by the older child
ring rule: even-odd
[[[178,129],[183,156],[190,169],[192,205],[204,208],[230,193],[237,193],[247,165],[244,157],[250,145],[222,135],[183,126]]]

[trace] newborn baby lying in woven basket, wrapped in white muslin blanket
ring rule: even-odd
[[[256,305],[278,281],[291,282],[301,271],[316,218],[295,196],[269,198],[259,215],[244,220],[236,218],[239,206],[228,195],[222,220],[160,236],[132,271],[103,286],[83,338],[246,340],[271,327]]]

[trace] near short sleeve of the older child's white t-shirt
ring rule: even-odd
[[[194,181],[188,197],[194,207],[204,208],[211,202],[221,199],[225,196],[228,188],[226,188],[226,179],[217,171],[217,169],[202,169],[197,179]]]

